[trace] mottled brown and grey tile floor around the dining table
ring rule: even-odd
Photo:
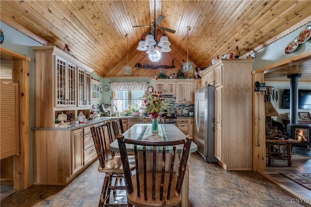
[[[68,186],[32,186],[1,200],[1,207],[97,207],[104,174],[92,163]],[[205,162],[197,153],[189,161],[190,207],[291,207],[293,194],[253,171],[225,171],[216,163]],[[119,191],[115,203],[124,203]]]

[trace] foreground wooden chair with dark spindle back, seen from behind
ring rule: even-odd
[[[123,135],[117,137],[120,149],[121,160],[123,164],[124,179],[127,190],[127,202],[137,207],[171,207],[181,202],[181,187],[186,173],[187,161],[189,158],[190,144],[192,137],[188,135],[186,139],[164,142],[147,142],[131,139],[124,139]],[[134,144],[136,159],[136,174],[130,173],[130,165],[127,158],[125,144]],[[175,150],[178,144],[184,144],[182,156],[180,158],[178,174],[173,172]],[[143,167],[138,162],[138,145],[142,146]],[[168,146],[172,147],[171,149]],[[152,149],[147,149],[151,147]],[[168,152],[166,152],[166,148]],[[161,152],[159,152],[161,150]],[[147,172],[146,152],[152,153],[152,171]],[[162,164],[160,172],[156,171],[156,153],[162,154]],[[166,153],[171,153],[172,159],[169,169],[165,169]],[[149,159],[150,160],[150,159]],[[143,170],[141,170],[143,169]]]

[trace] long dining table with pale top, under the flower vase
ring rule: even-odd
[[[127,139],[135,139],[135,140],[148,140],[148,141],[174,141],[174,140],[180,140],[182,138],[186,139],[186,135],[175,125],[171,124],[159,124],[159,131],[158,132],[152,132],[151,131],[152,124],[135,124],[132,127],[130,127],[128,130],[126,130],[123,133],[124,138]],[[114,152],[120,152],[119,150],[119,144],[118,140],[114,140],[109,145],[109,149]],[[198,149],[198,146],[192,141],[190,145],[190,154],[193,152],[196,152]],[[134,152],[133,144],[126,144],[126,151],[127,152]],[[138,152],[141,151],[140,154],[142,154],[142,148],[138,148]],[[179,159],[183,151],[183,144],[176,145],[176,156],[175,159]],[[150,153],[147,153],[150,154]],[[167,149],[167,155],[170,156],[171,151],[170,149]],[[190,154],[189,154],[189,160],[190,160]],[[157,161],[156,165],[157,167],[161,166],[161,158],[157,158],[159,161]],[[149,160],[149,162],[148,162]],[[167,159],[168,160],[168,159]],[[141,160],[140,160],[141,161]],[[168,161],[169,162],[169,161]],[[151,169],[152,167],[152,155],[149,159],[147,159],[147,169]],[[178,171],[178,166],[174,169],[175,172]],[[188,207],[189,205],[189,169],[187,167],[186,174],[184,177],[184,182],[182,185],[181,190],[181,197],[182,201],[180,206],[181,207]]]

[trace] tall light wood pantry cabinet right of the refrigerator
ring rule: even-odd
[[[222,59],[201,74],[203,78],[214,73],[214,151],[218,163],[226,170],[253,167],[253,62],[252,59]]]

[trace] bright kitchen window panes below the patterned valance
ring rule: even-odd
[[[145,91],[114,91],[113,98],[122,99],[122,110],[128,110],[128,105],[135,105],[137,99],[145,95]],[[138,107],[141,103],[138,103]]]

